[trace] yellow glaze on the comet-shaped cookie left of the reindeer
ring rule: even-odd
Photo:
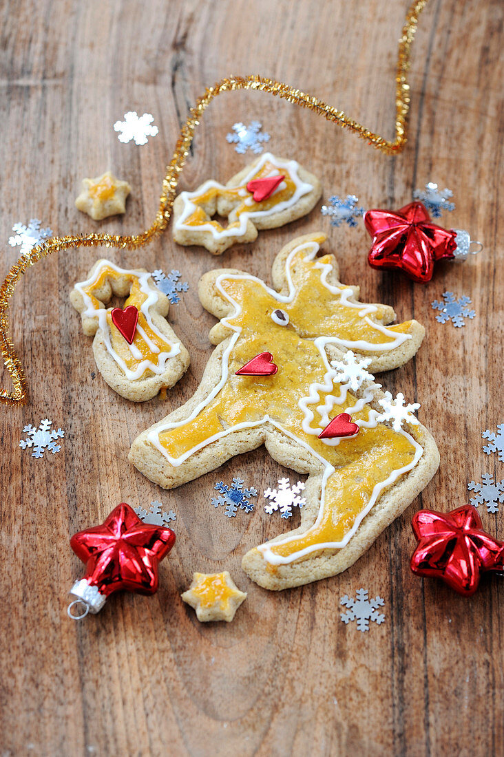
[[[140,350],[142,357],[137,359],[136,357],[133,357],[133,354],[131,354],[129,344],[124,339],[124,336],[121,334],[119,329],[117,329],[117,326],[114,326],[114,323],[112,322],[112,308],[109,307],[107,310],[107,323],[108,328],[110,329],[112,349],[117,353],[119,357],[124,360],[124,363],[126,363],[127,367],[131,371],[136,370],[137,366],[139,366],[139,363],[141,363],[142,360],[149,360],[150,363],[158,365],[159,355],[161,354],[161,352],[170,352],[172,345],[168,341],[165,341],[164,338],[162,338],[157,332],[151,329],[146,316],[142,313],[142,304],[146,301],[148,295],[146,294],[146,292],[143,292],[140,289],[138,276],[135,276],[134,273],[117,273],[117,271],[111,268],[111,266],[104,266],[102,269],[100,269],[99,275],[96,276],[91,284],[89,284],[87,287],[84,287],[83,291],[85,291],[86,294],[88,294],[91,298],[93,307],[95,307],[96,310],[99,310],[102,303],[98,298],[95,297],[94,292],[101,289],[105,285],[105,282],[114,280],[117,281],[117,279],[126,279],[128,282],[130,282],[130,294],[124,303],[124,308],[128,307],[128,305],[134,305],[138,310],[138,325],[133,337],[133,344],[135,345],[135,347],[137,347],[137,349]],[[152,351],[152,348],[149,346],[146,339],[140,334],[138,326],[140,326],[144,330],[144,332],[146,332],[146,335],[148,336],[150,341],[152,341],[152,343],[155,344],[156,347],[158,347],[158,352]],[[146,369],[142,372],[142,377],[145,377],[146,375],[152,375],[152,371],[149,370],[149,367],[146,367]]]

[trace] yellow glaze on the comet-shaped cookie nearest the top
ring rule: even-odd
[[[258,210],[270,210],[275,205],[290,200],[296,192],[296,182],[290,176],[288,170],[283,168],[279,169],[269,160],[265,161],[264,166],[254,174],[250,181],[253,179],[262,179],[263,177],[268,176],[268,174],[271,174],[271,172],[283,174],[285,187],[278,189],[277,192],[274,192],[270,197],[261,202],[254,202],[252,200],[252,195],[248,191],[245,197],[241,197],[239,192],[246,189],[246,185],[243,185],[243,187],[232,188],[209,187],[205,192],[202,192],[201,195],[191,198],[191,202],[196,205],[196,210],[184,220],[184,225],[201,226],[202,224],[210,224],[214,229],[217,229],[218,232],[223,231],[223,226],[221,226],[218,221],[211,220],[211,215],[216,212],[218,198],[225,198],[227,201],[233,203],[233,210],[230,213],[230,216],[233,217],[233,221],[228,223],[226,227],[227,229],[235,229],[239,227],[239,217],[242,213],[257,213]],[[210,212],[208,212],[208,210]]]

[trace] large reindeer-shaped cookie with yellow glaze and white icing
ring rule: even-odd
[[[281,465],[308,474],[301,526],[243,558],[243,569],[268,589],[352,565],[439,464],[434,439],[415,418],[405,428],[387,421],[385,395],[371,375],[340,375],[354,354],[374,372],[401,366],[418,350],[423,327],[387,326],[391,307],[359,303],[358,288],[338,282],[334,257],[316,257],[324,239],[307,235],[283,248],[273,266],[277,291],[236,270],[202,277],[202,304],[221,319],[210,332],[218,347],[193,399],[139,435],[130,451],[139,471],[164,488],[261,444]],[[236,374],[265,352],[277,372]],[[342,412],[358,433],[320,438],[330,415]]]

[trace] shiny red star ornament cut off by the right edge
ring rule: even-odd
[[[504,542],[483,531],[472,505],[451,512],[419,510],[412,527],[418,541],[411,561],[416,575],[442,578],[459,594],[470,597],[483,572],[504,570]]]

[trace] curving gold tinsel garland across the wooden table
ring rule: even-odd
[[[406,14],[405,23],[402,27],[402,36],[399,39],[396,67],[396,138],[393,142],[366,129],[362,124],[346,116],[343,111],[338,111],[332,105],[327,105],[318,100],[318,98],[307,95],[299,89],[294,89],[288,84],[277,82],[274,79],[266,79],[264,76],[256,74],[230,76],[229,79],[221,79],[213,87],[208,87],[205,90],[205,94],[196,102],[196,106],[191,109],[189,118],[186,120],[180,132],[180,137],[177,140],[174,156],[167,167],[161,197],[159,198],[159,209],[149,229],[133,236],[86,234],[53,237],[33,248],[26,256],[20,257],[17,263],[12,266],[2,284],[2,288],[0,288],[0,348],[2,349],[5,366],[11,375],[14,385],[14,391],[12,392],[5,389],[0,390],[0,401],[9,405],[20,405],[27,402],[27,379],[24,375],[21,361],[14,350],[14,344],[12,344],[8,336],[8,305],[20,277],[29,266],[35,265],[42,257],[46,257],[53,252],[77,247],[98,247],[99,245],[133,250],[146,245],[156,235],[164,232],[171,217],[171,208],[174,204],[179,176],[193,142],[196,126],[199,125],[203,111],[218,95],[221,95],[223,92],[233,92],[236,89],[256,89],[261,92],[269,92],[271,95],[277,95],[301,107],[307,107],[316,114],[324,116],[328,121],[350,129],[359,137],[365,139],[368,144],[373,145],[385,154],[400,152],[406,142],[406,117],[409,111],[409,84],[406,79],[406,72],[409,68],[412,42],[418,24],[418,15],[426,4],[427,0],[415,0],[412,3]]]

